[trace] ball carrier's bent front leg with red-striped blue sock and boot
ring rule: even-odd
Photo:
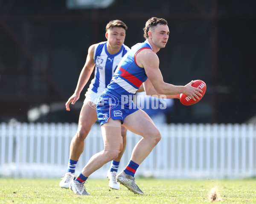
[[[134,193],[144,195],[135,183],[134,174],[139,165],[151,153],[161,139],[161,135],[151,118],[142,110],[131,113],[123,125],[131,132],[143,136],[135,145],[128,165],[116,176],[116,180]]]

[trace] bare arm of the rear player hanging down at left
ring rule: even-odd
[[[70,103],[74,105],[76,101],[79,99],[81,91],[83,90],[84,86],[87,84],[88,80],[90,79],[91,74],[93,73],[93,69],[95,66],[95,61],[93,59],[94,54],[94,47],[95,45],[91,45],[88,49],[87,58],[84,64],[84,67],[80,73],[76,90],[74,94],[67,100],[66,102],[66,110],[70,111]]]

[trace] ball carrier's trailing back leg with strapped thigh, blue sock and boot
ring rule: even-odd
[[[93,155],[76,179],[70,183],[71,188],[75,186],[72,189],[75,193],[77,188],[85,193],[84,182],[88,176],[108,163],[108,161],[116,159],[119,152],[122,151],[121,121],[109,118],[108,122],[101,126],[101,129],[104,150]],[[79,190],[76,194],[82,195],[79,194]]]

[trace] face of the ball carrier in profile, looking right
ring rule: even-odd
[[[164,48],[169,38],[169,27],[158,24],[152,31],[152,41],[158,48]]]

